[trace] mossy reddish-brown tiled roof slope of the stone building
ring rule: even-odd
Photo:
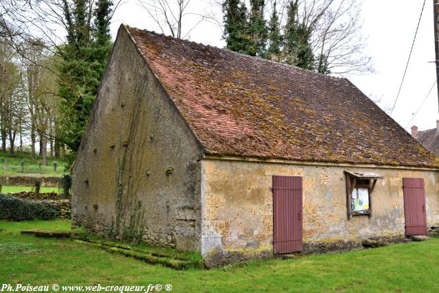
[[[207,154],[439,166],[344,78],[125,28]]]

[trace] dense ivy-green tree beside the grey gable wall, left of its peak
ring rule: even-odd
[[[98,0],[91,8],[86,0],[75,0],[73,9],[64,1],[67,44],[60,49],[58,95],[62,97],[60,141],[75,159],[91,113],[91,107],[110,54],[111,2]],[[94,22],[91,19],[94,18]]]

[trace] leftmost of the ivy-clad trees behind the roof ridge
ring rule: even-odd
[[[224,13],[224,39],[226,48],[242,54],[248,54],[248,21],[247,8],[239,0],[224,0],[222,4]]]

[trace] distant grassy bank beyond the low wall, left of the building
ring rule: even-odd
[[[21,169],[21,162],[24,162],[24,172]],[[0,153],[0,175],[14,176],[62,176],[64,174],[65,163],[59,159],[47,159],[47,166],[38,165],[42,159],[37,157],[32,159],[29,153],[17,153],[11,157],[10,154]],[[56,171],[54,162],[57,163]]]

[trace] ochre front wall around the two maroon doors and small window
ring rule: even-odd
[[[383,176],[373,215],[347,219],[344,170]],[[202,161],[202,254],[221,264],[272,255],[272,176],[302,176],[305,251],[355,248],[362,239],[405,237],[403,177],[424,178],[427,222],[439,222],[439,174],[431,171]]]

